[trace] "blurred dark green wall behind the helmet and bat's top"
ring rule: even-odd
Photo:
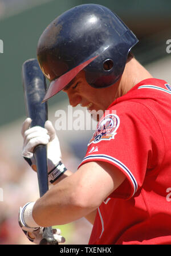
[[[1,109],[0,125],[25,115],[21,67],[26,59],[36,58],[36,44],[46,26],[64,11],[89,1],[0,1]],[[107,0],[91,1],[111,8],[140,39],[135,48],[137,59],[149,63],[166,55],[166,39],[171,38],[171,1]],[[49,101],[63,100],[60,94]]]

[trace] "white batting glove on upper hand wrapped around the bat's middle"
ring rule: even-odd
[[[44,128],[30,128],[31,119],[28,117],[22,125],[23,149],[22,156],[36,170],[34,148],[40,144],[47,145],[48,180],[53,183],[67,169],[61,162],[61,151],[58,137],[51,121],[46,121]]]

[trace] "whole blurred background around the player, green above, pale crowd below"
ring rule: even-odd
[[[21,156],[21,126],[26,118],[21,68],[36,58],[36,44],[46,26],[64,11],[84,3],[99,3],[112,9],[137,35],[133,53],[149,72],[171,83],[171,2],[169,0],[0,0],[1,115],[0,115],[0,244],[31,244],[18,226],[19,206],[39,197],[36,173]],[[168,47],[168,50],[166,50]],[[67,96],[48,101],[48,119],[55,125],[55,112],[67,113]],[[81,107],[78,107],[80,109]],[[56,131],[63,162],[75,172],[93,131]],[[3,197],[3,198],[2,198]],[[87,244],[92,225],[84,218],[59,226],[66,244]]]

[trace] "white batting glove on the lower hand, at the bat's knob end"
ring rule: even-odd
[[[43,239],[43,229],[44,227],[29,227],[25,224],[25,210],[27,207],[30,207],[29,205],[32,204],[32,202],[27,203],[26,205],[21,207],[19,209],[19,216],[18,216],[18,223],[23,232],[25,233],[28,240],[30,240],[33,243],[36,243],[36,245],[40,244],[40,241]],[[54,239],[58,243],[64,243],[66,239],[60,235],[60,229],[52,229],[54,233]]]

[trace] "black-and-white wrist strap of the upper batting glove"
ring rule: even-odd
[[[55,168],[48,173],[48,181],[53,184],[66,170],[66,166],[59,161]]]

